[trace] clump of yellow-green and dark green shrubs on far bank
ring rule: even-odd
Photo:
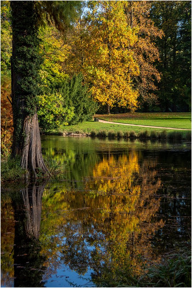
[[[98,104],[91,99],[82,74],[72,79],[48,81],[39,96],[38,118],[42,132],[64,129],[66,125],[92,119]]]

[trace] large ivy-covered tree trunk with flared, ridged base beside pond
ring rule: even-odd
[[[12,156],[21,156],[26,177],[49,174],[41,153],[37,118],[39,94],[39,38],[35,1],[11,1],[13,51],[11,57],[11,98],[13,109]]]

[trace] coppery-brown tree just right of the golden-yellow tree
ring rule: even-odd
[[[131,29],[136,29],[137,35],[137,41],[131,47],[133,58],[139,66],[139,74],[133,79],[134,87],[139,91],[140,105],[151,105],[157,103],[157,96],[153,92],[161,79],[156,68],[160,55],[155,41],[162,38],[163,31],[150,18],[150,1],[123,2],[126,22]]]

